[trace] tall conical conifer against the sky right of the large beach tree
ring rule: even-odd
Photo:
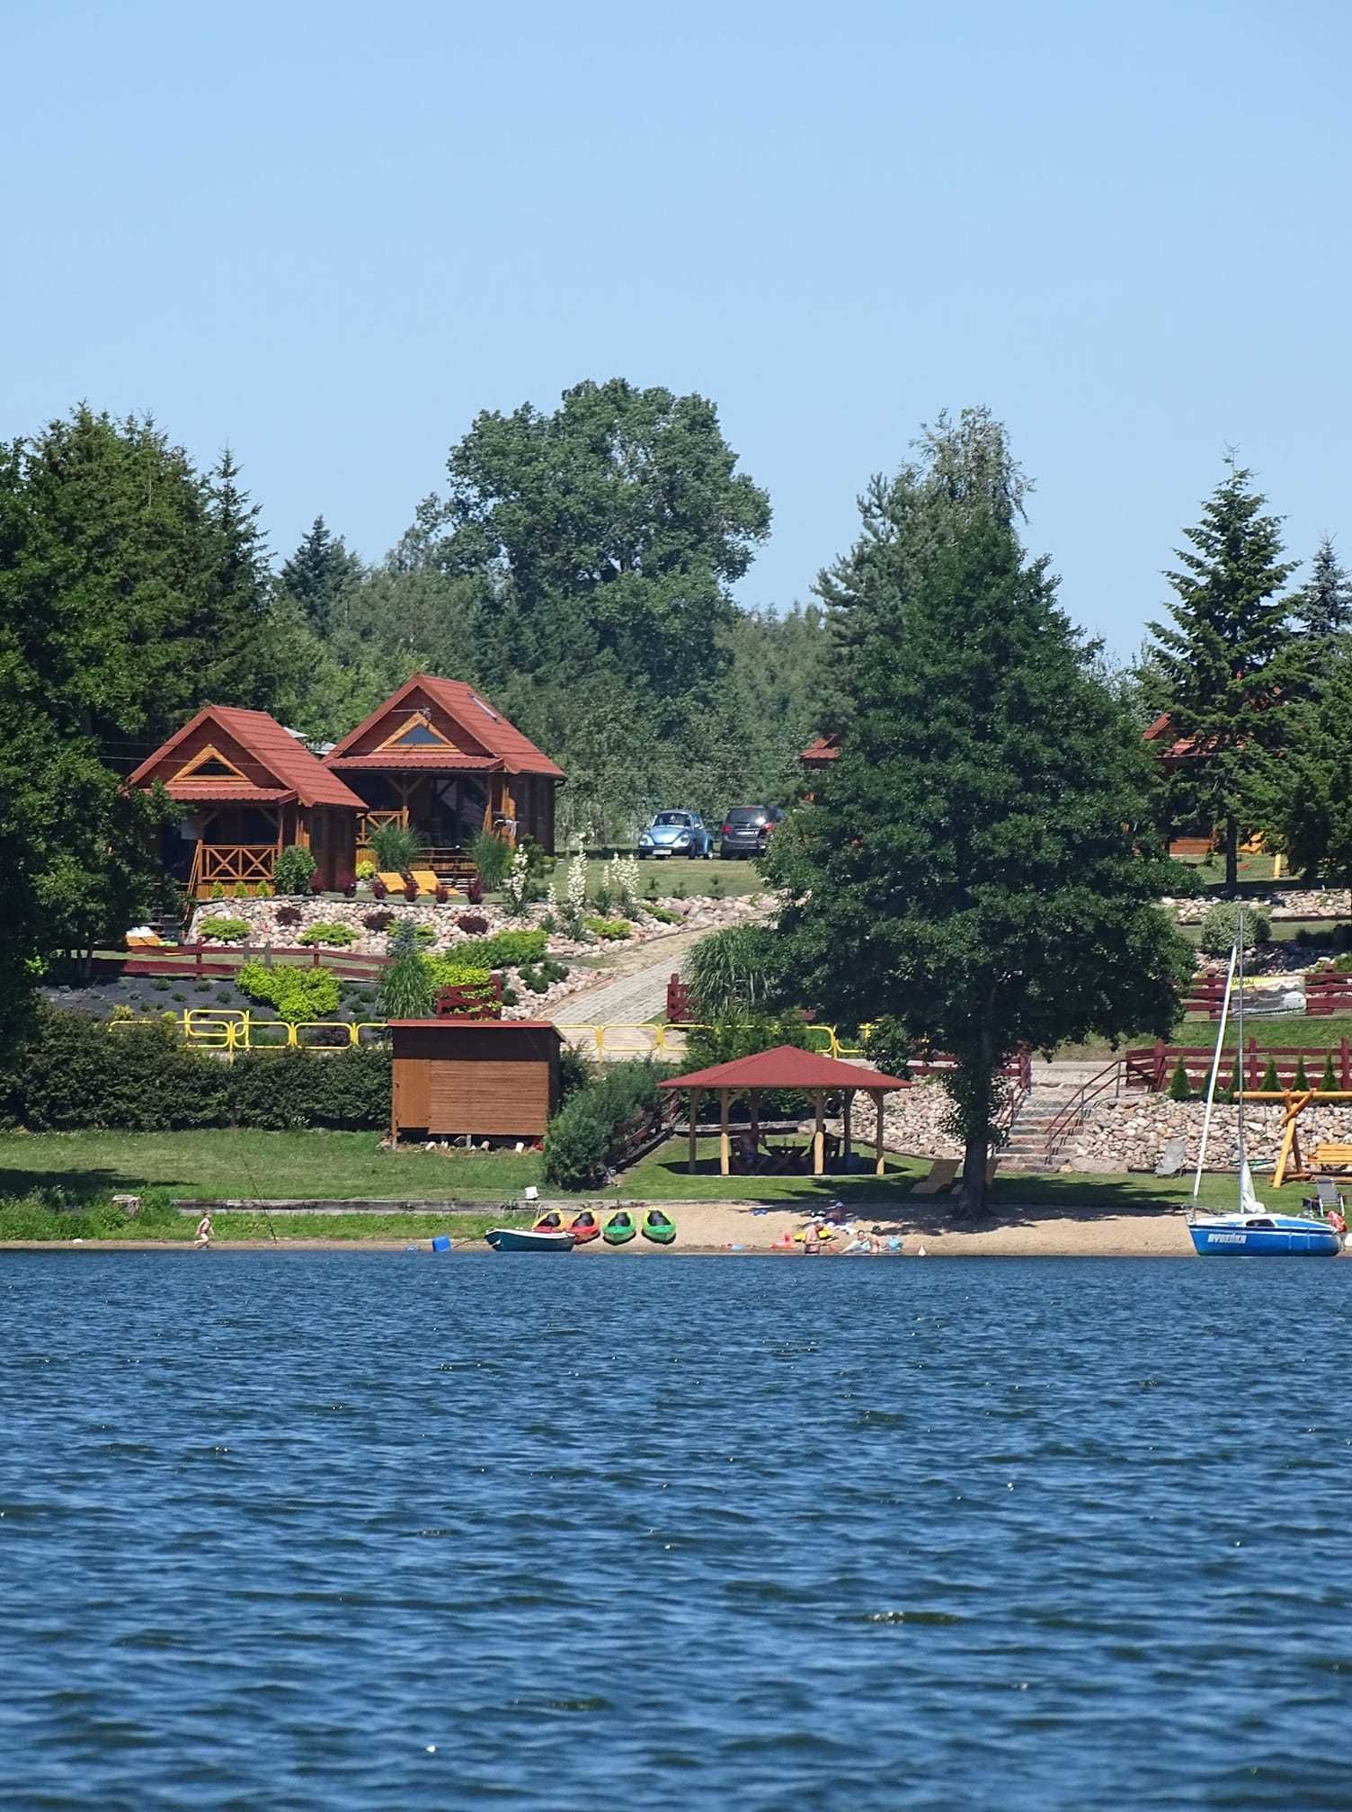
[[[1299,651],[1281,585],[1280,518],[1263,513],[1252,473],[1227,458],[1202,522],[1185,529],[1167,574],[1173,625],[1151,623],[1169,714],[1193,754],[1169,781],[1174,817],[1209,814],[1225,830],[1225,884],[1240,875],[1240,828],[1274,808],[1276,757],[1299,689]]]

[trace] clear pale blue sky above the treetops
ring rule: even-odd
[[[700,390],[787,605],[986,402],[1129,651],[1227,442],[1352,564],[1350,53],[1336,0],[2,0],[0,433],[150,410],[379,556],[477,410]]]

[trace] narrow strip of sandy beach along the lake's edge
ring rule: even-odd
[[[801,1245],[783,1247],[783,1236],[803,1225],[801,1209],[763,1209],[750,1201],[667,1201],[663,1209],[678,1227],[678,1243],[672,1248],[685,1256],[758,1256],[783,1252],[787,1258],[801,1258]],[[353,1216],[355,1219],[355,1216]],[[1191,1258],[1193,1245],[1187,1236],[1187,1223],[1182,1210],[1158,1212],[1156,1209],[1140,1214],[1098,1214],[1086,1209],[1082,1214],[1051,1212],[1048,1209],[1002,1209],[977,1227],[955,1225],[942,1209],[924,1209],[906,1212],[888,1205],[874,1212],[855,1214],[850,1225],[864,1229],[879,1227],[884,1234],[901,1234],[901,1258],[919,1258],[921,1248],[926,1258]],[[223,1239],[216,1252],[352,1252],[352,1250],[388,1250],[402,1252],[410,1245],[426,1247],[426,1236],[399,1238],[382,1234],[373,1239],[288,1239],[285,1219],[279,1216],[279,1238],[274,1239]],[[846,1245],[848,1236],[837,1234],[837,1245]],[[83,1239],[83,1241],[4,1241],[0,1250],[83,1250],[83,1252],[192,1252],[187,1241],[169,1239]],[[488,1250],[482,1241],[457,1239],[455,1252]],[[649,1258],[658,1252],[645,1239],[634,1239],[627,1247],[613,1248],[602,1241],[580,1247],[578,1256],[593,1258]]]

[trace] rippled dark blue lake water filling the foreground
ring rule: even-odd
[[[1352,1805],[1352,1265],[0,1256],[18,1808]]]

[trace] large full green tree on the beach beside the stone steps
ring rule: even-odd
[[[1193,953],[1156,906],[1169,864],[1127,828],[1149,756],[1024,556],[1004,435],[953,486],[953,433],[886,506],[910,545],[859,569],[843,752],[770,868],[790,997],[841,1024],[890,1015],[953,1056],[959,1209],[977,1214],[1009,1058],[1167,1035]]]

